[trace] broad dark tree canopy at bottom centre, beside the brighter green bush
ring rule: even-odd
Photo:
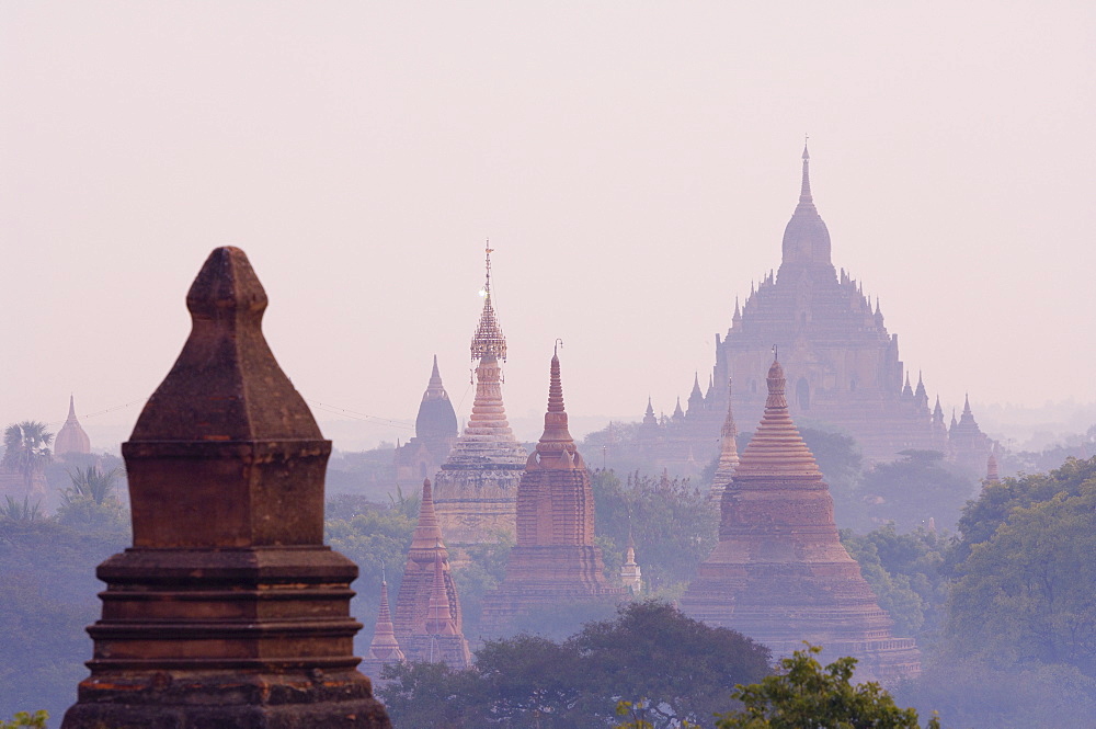
[[[512,729],[604,726],[621,696],[646,696],[653,727],[708,720],[731,688],[768,672],[768,650],[669,603],[623,605],[570,639],[489,640],[471,671],[388,667],[379,690],[395,726]],[[710,726],[710,721],[707,721]]]

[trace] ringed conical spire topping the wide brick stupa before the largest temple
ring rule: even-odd
[[[821,481],[814,455],[791,422],[785,397],[787,380],[778,361],[768,369],[768,398],[757,431],[739,458],[734,481],[778,479]]]

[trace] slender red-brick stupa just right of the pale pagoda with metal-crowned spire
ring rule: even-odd
[[[502,584],[483,599],[483,633],[501,635],[514,617],[535,610],[613,602],[625,594],[605,579],[602,551],[594,546],[590,472],[568,432],[559,356],[552,355],[544,435],[517,492],[517,544]]]

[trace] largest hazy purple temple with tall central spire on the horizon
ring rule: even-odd
[[[763,277],[744,306],[735,303],[731,327],[716,340],[717,381],[733,378],[734,411],[755,422],[765,407],[772,348],[779,346],[791,412],[850,433],[870,460],[892,459],[907,448],[933,449],[927,394],[916,391],[899,357],[898,335],[887,331],[879,299],[872,309],[863,287],[831,260],[830,231],[814,204],[810,155],[804,146],[799,203],[784,231],[776,275]],[[903,387],[905,385],[905,387]],[[717,390],[722,412],[726,394]],[[715,455],[718,425],[697,440],[697,457]],[[701,449],[707,447],[707,449]]]

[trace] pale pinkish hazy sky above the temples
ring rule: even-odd
[[[409,422],[437,353],[465,415],[488,237],[515,418],[557,337],[572,417],[669,412],[779,265],[804,133],[834,264],[931,395],[1092,401],[1094,31],[1091,1],[4,0],[0,421],[72,391],[121,440],[136,406],[92,413],[162,379],[222,244],[310,401]]]

